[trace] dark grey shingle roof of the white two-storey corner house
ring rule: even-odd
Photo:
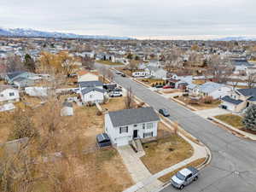
[[[160,120],[158,115],[154,112],[153,108],[124,109],[120,111],[109,112],[108,114],[114,127]]]

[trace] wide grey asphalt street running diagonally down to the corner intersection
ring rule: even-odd
[[[242,139],[203,119],[189,109],[167,100],[131,79],[115,75],[115,81],[131,87],[133,93],[155,109],[167,108],[170,119],[205,143],[212,153],[209,166],[201,171],[195,183],[185,187],[186,192],[256,192],[256,142]],[[172,186],[162,192],[178,191]]]

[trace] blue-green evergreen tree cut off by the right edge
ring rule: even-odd
[[[247,109],[242,123],[248,130],[256,131],[256,105],[252,105]]]

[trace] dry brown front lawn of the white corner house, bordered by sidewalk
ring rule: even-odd
[[[160,172],[178,162],[192,156],[193,148],[189,143],[178,137],[166,127],[160,124],[158,140],[143,144],[145,155],[141,158],[148,170],[153,174]]]

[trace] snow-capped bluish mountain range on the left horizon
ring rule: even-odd
[[[94,38],[94,39],[118,39],[118,40],[128,40],[132,38],[128,37],[112,37],[112,36],[101,36],[101,35],[78,35],[74,33],[65,32],[43,32],[33,29],[5,29],[0,27],[0,36],[7,37],[26,37],[26,38]]]

